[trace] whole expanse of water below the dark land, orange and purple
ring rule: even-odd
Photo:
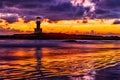
[[[0,40],[0,80],[120,80],[120,41]]]

